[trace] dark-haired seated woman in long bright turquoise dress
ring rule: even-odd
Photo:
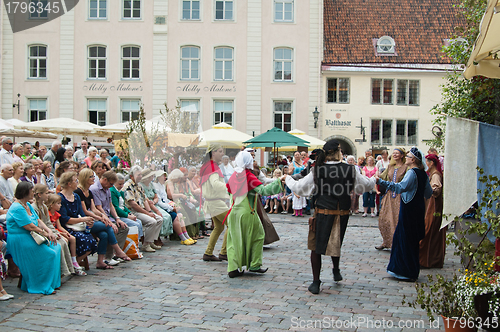
[[[7,213],[7,248],[23,276],[21,289],[33,294],[54,294],[61,286],[61,247],[56,236],[38,218],[28,201],[33,200],[33,185],[21,182],[14,196],[17,201]],[[36,231],[50,243],[36,244],[30,231]]]

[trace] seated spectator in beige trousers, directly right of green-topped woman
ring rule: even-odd
[[[144,190],[139,185],[142,180],[142,169],[139,166],[134,166],[130,169],[130,179],[125,183],[123,191],[125,192],[125,205],[142,223],[144,230],[144,245],[143,251],[155,252],[161,249],[160,246],[154,244],[154,240],[158,239],[163,217],[151,212],[148,200],[144,194]]]

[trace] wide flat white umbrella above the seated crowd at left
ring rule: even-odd
[[[90,122],[82,122],[71,118],[55,118],[35,122],[28,122],[24,125],[14,125],[16,129],[27,129],[33,131],[50,132],[55,134],[83,135],[87,136],[96,132],[98,125]]]

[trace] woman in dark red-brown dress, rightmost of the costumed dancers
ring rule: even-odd
[[[432,158],[432,159],[431,159]],[[439,159],[435,155],[426,156],[426,159]],[[440,166],[439,166],[440,168]],[[430,177],[432,196],[427,201],[425,213],[425,237],[420,241],[420,266],[425,268],[442,268],[446,251],[446,230],[441,229],[443,213],[443,175],[440,169],[434,170]]]

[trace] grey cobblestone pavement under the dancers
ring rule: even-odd
[[[114,270],[96,270],[66,279],[56,295],[32,295],[7,279],[14,300],[0,302],[0,331],[432,331],[422,310],[401,304],[415,296],[412,283],[385,272],[389,251],[377,251],[377,219],[353,216],[342,257],[344,280],[333,282],[331,260],[323,258],[321,293],[307,291],[312,281],[306,246],[307,218],[271,215],[281,240],[264,249],[262,275],[230,279],[225,262],[201,260],[207,239],[193,246],[167,242],[142,260]],[[220,249],[217,243],[215,253]],[[440,270],[459,267],[451,248]],[[402,325],[400,325],[402,324]]]

